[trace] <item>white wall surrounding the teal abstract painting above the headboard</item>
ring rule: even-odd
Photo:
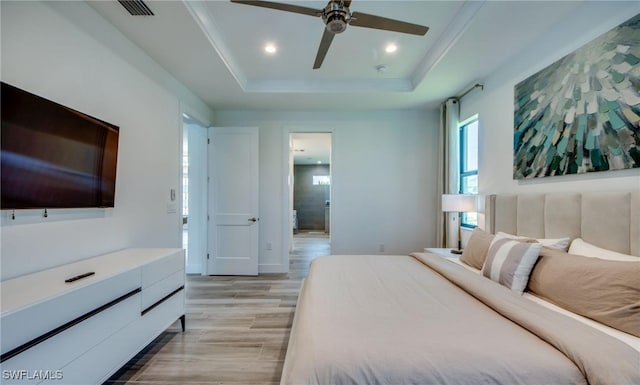
[[[640,189],[640,169],[516,181],[514,86],[640,12],[640,2],[583,2],[570,18],[523,47],[461,102],[461,119],[478,113],[480,194]]]

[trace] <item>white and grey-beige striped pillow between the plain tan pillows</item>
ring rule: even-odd
[[[541,249],[542,244],[538,242],[496,237],[489,246],[482,275],[522,293]]]

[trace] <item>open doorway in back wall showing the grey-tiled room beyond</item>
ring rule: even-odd
[[[331,133],[290,134],[292,254],[331,253],[331,139]]]

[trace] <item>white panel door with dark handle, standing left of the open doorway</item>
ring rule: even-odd
[[[258,274],[258,128],[209,128],[209,275]]]

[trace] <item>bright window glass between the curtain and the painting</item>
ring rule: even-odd
[[[460,193],[478,193],[478,117],[460,125]],[[463,213],[461,225],[476,227],[477,213]]]

